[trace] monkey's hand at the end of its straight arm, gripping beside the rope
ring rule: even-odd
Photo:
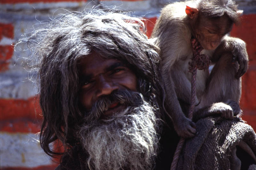
[[[190,138],[196,135],[196,124],[184,116],[180,116],[180,120],[174,122],[174,129],[180,137]]]

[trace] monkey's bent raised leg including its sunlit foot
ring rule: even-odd
[[[234,115],[241,113],[241,78],[235,78],[238,67],[237,62],[232,62],[230,53],[220,57],[210,73],[199,110],[196,110],[193,120],[214,114],[233,119]]]

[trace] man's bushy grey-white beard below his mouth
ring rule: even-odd
[[[159,137],[156,109],[143,100],[108,119],[80,127],[78,138],[95,170],[153,169]]]

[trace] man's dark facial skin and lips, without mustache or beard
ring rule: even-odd
[[[81,89],[79,101],[86,111],[102,96],[116,90],[137,91],[137,78],[123,62],[104,59],[96,52],[85,56],[79,63]],[[112,115],[125,108],[124,104],[113,102],[103,115]]]

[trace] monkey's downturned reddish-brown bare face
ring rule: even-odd
[[[233,24],[227,15],[213,18],[199,17],[197,23],[196,39],[207,50],[216,49],[223,36],[231,31]]]

